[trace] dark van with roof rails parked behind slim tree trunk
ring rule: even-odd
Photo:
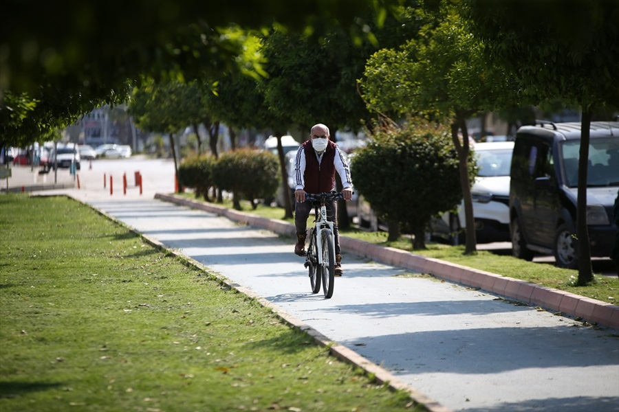
[[[591,122],[587,228],[591,256],[609,257],[617,227],[619,122]],[[578,267],[576,198],[580,123],[536,122],[519,128],[510,170],[512,253],[532,260],[554,255],[556,266]]]

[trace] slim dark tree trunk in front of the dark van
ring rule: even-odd
[[[578,198],[576,199],[576,250],[578,251],[578,286],[586,286],[593,280],[591,267],[591,244],[587,229],[587,167],[589,163],[589,140],[591,139],[591,108],[583,107],[580,121],[580,152],[578,154]]]

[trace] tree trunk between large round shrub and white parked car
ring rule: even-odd
[[[458,129],[462,130],[462,141],[458,137]],[[466,220],[466,242],[464,254],[470,255],[477,252],[477,238],[475,236],[475,218],[473,216],[473,198],[470,196],[470,183],[468,182],[468,130],[464,118],[457,118],[451,124],[451,139],[458,154],[458,169],[460,172],[460,186],[462,188],[462,198],[464,199],[464,216]],[[460,222],[461,224],[461,222]]]

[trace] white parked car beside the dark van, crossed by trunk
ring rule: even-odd
[[[513,141],[475,143],[475,159],[479,172],[471,187],[473,218],[477,243],[510,240],[510,165]],[[448,211],[431,222],[431,236],[451,244],[465,241],[464,201],[455,212]]]

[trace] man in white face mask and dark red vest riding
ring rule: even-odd
[[[331,192],[335,189],[335,173],[342,180],[342,195],[345,201],[352,197],[352,180],[350,168],[342,152],[333,141],[329,140],[329,128],[316,124],[310,132],[310,139],[301,144],[294,158],[294,225],[296,227],[296,244],[294,253],[305,256],[305,238],[307,237],[307,218],[312,211],[312,203],[305,199],[305,194]],[[328,201],[327,220],[333,222],[335,239],[335,275],[341,276],[342,255],[340,254],[340,237],[338,234],[337,201]]]

